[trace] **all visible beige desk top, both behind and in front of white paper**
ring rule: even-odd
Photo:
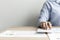
[[[7,30],[23,30],[23,31],[35,31],[37,27],[24,26],[24,27],[9,27]],[[0,40],[48,40],[48,37],[0,37]]]

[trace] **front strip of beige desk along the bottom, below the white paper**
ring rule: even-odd
[[[48,38],[39,38],[39,37],[1,37],[0,40],[48,40]]]

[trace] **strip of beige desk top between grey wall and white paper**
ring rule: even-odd
[[[22,26],[22,27],[9,27],[7,30],[28,30],[28,31],[35,31],[37,27],[34,26]]]

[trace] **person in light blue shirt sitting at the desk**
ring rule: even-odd
[[[60,0],[46,0],[39,16],[39,27],[51,29],[60,26]]]

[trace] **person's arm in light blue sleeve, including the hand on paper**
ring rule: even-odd
[[[51,6],[49,2],[45,2],[40,13],[39,17],[39,26],[42,26],[44,29],[51,28],[51,23],[48,22],[50,19]]]

